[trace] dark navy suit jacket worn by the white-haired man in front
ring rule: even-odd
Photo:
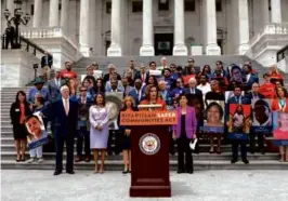
[[[69,98],[69,112],[65,113],[62,98],[52,104],[52,116],[55,123],[55,136],[75,137],[78,118],[78,103]]]

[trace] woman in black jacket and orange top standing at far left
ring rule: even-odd
[[[26,100],[26,94],[23,91],[17,92],[16,100],[11,105],[10,118],[13,125],[15,149],[17,153],[16,161],[25,161],[25,149],[27,144],[27,132],[24,120],[31,115],[29,104]]]

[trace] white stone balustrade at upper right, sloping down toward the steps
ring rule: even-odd
[[[288,23],[273,23],[265,25],[263,30],[257,34],[250,41],[250,46],[253,46],[261,38],[265,35],[287,35],[288,34]]]

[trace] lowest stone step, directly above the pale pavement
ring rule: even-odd
[[[64,170],[66,162],[64,161]],[[80,162],[75,163],[75,170],[94,170],[94,162],[89,163]],[[5,170],[51,170],[51,175],[55,169],[54,160],[44,160],[42,163],[31,163],[16,162],[15,160],[2,160],[1,169]],[[213,161],[195,161],[195,171],[204,170],[288,170],[288,163],[280,163],[274,160],[261,160],[261,161],[250,161],[250,164],[244,164],[241,161],[231,164],[230,160],[213,160]],[[105,171],[122,171],[122,161],[105,161]],[[170,171],[176,171],[176,161],[170,161]]]

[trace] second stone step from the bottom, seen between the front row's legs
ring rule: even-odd
[[[92,152],[91,152],[92,153]],[[66,159],[66,152],[64,152],[64,159]],[[76,158],[76,152],[74,153]],[[26,159],[29,158],[29,152],[26,151]],[[277,160],[278,159],[278,153],[248,153],[247,158],[248,160]],[[1,152],[1,160],[14,160],[16,158],[16,155],[14,151],[2,151]],[[55,159],[55,153],[54,152],[44,152],[43,158],[45,160],[54,160]],[[112,155],[106,157],[107,160],[122,160],[121,153],[118,156]],[[208,152],[200,152],[199,155],[194,153],[193,159],[195,161],[201,161],[201,160],[231,160],[232,159],[232,153],[231,152],[222,152],[221,155],[210,155]],[[178,160],[178,153],[174,153],[173,156],[170,155],[170,160]]]

